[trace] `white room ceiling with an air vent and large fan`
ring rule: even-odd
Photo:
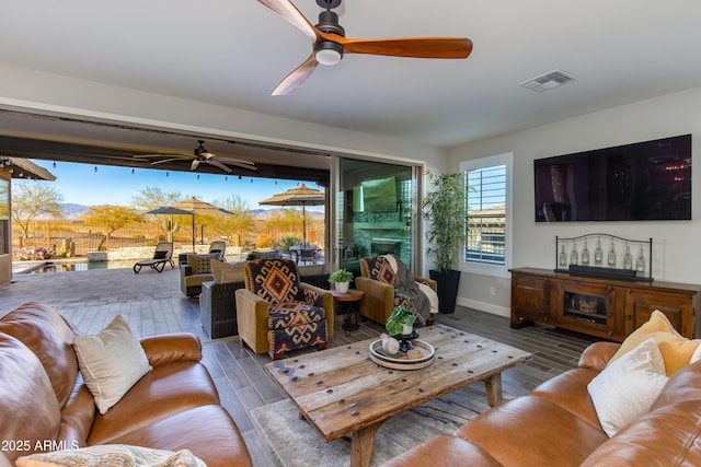
[[[314,0],[295,3],[317,23]],[[441,148],[701,85],[698,0],[344,0],[337,12],[348,37],[467,36],[474,49],[347,55],[273,97],[311,45],[255,0],[4,0],[0,63]],[[518,85],[554,69],[577,80]]]

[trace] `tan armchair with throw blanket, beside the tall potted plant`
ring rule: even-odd
[[[388,258],[393,258],[394,264]],[[405,283],[400,284],[400,280]],[[421,289],[425,299],[412,296],[416,287]],[[417,320],[420,324],[434,323],[434,314],[438,306],[435,295],[436,281],[409,275],[406,266],[393,255],[360,258],[360,276],[355,278],[355,288],[365,292],[359,304],[360,316],[375,323],[386,324],[394,306],[402,302],[410,302],[410,306],[421,308],[417,310],[423,318]]]

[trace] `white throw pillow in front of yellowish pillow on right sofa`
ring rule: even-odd
[[[607,366],[587,389],[606,434],[647,413],[667,383],[662,352],[650,338]]]

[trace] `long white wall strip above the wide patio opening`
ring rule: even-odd
[[[199,131],[360,156],[443,160],[445,150],[0,63],[0,106]]]

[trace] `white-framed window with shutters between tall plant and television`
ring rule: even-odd
[[[468,237],[463,269],[503,276],[510,264],[510,172],[513,154],[467,161]]]

